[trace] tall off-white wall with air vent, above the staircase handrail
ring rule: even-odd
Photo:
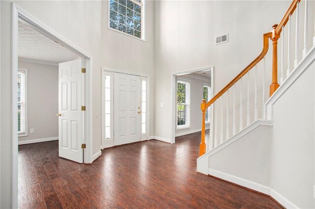
[[[289,4],[289,1],[273,1],[272,6],[270,1],[155,1],[155,70],[159,84],[156,103],[164,103],[163,108],[156,106],[159,116],[155,120],[156,136],[171,137],[171,73],[214,66],[216,94],[261,52],[263,33],[280,22]],[[215,45],[215,37],[227,32],[229,42]],[[271,62],[267,62],[266,83],[271,83],[270,69]]]

